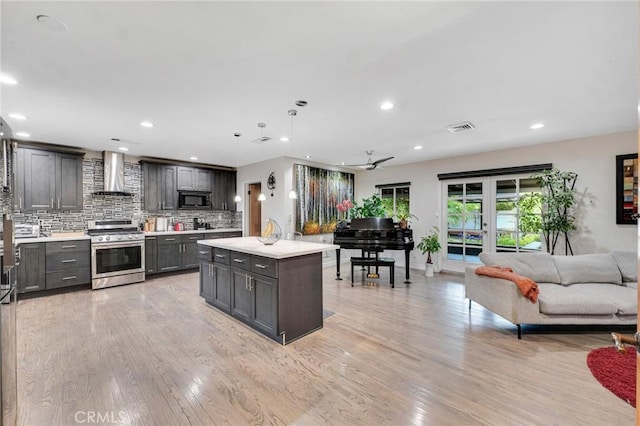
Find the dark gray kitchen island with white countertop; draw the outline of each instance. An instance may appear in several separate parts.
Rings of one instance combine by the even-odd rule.
[[[267,337],[290,343],[322,328],[322,253],[333,244],[255,237],[198,241],[200,295]]]

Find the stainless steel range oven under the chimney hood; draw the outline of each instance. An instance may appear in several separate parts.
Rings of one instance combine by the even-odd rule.
[[[144,233],[130,220],[89,223],[91,287],[144,281]]]

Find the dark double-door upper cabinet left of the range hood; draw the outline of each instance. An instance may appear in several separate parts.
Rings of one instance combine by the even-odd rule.
[[[19,148],[18,210],[82,209],[82,154]]]

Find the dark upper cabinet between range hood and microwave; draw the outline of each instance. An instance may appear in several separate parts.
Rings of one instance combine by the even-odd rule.
[[[143,163],[144,208],[147,211],[178,208],[177,166]]]

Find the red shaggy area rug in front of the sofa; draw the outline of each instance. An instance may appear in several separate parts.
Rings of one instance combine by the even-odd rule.
[[[594,349],[587,355],[587,365],[602,386],[617,397],[636,406],[636,350],[627,347],[621,354],[616,348]]]

